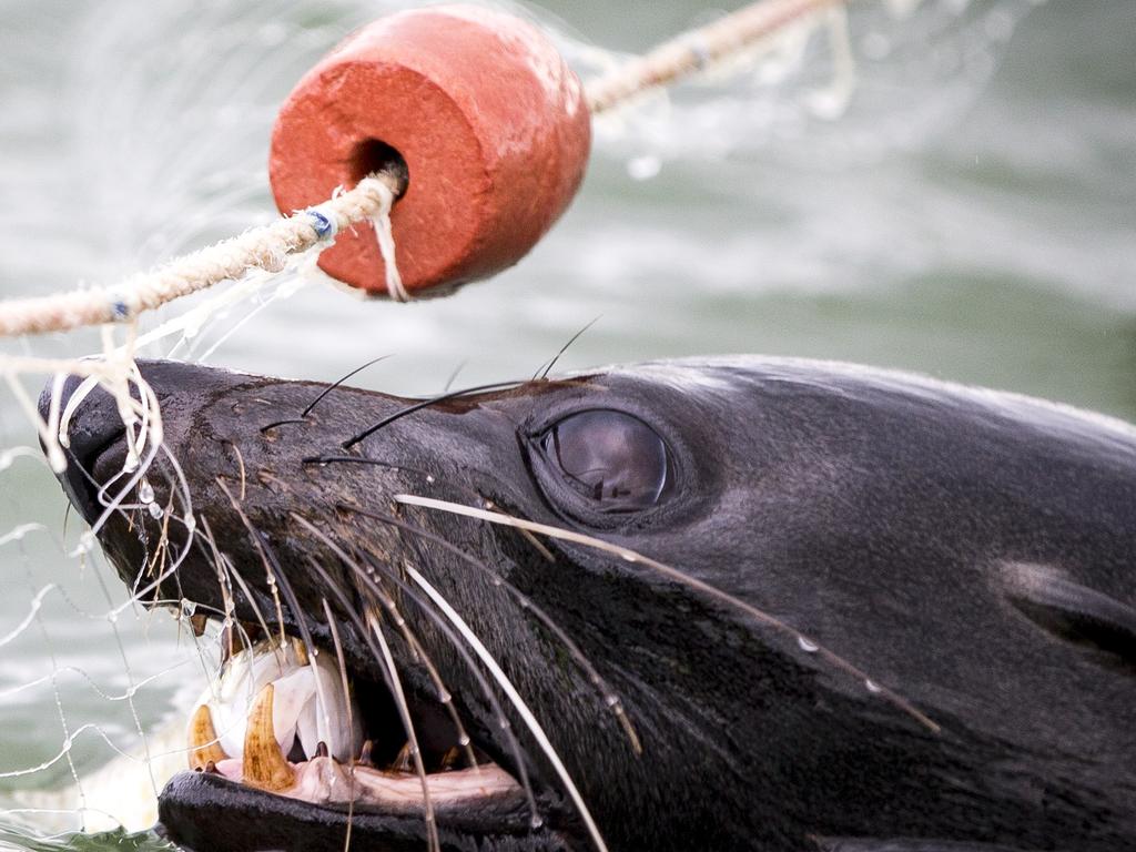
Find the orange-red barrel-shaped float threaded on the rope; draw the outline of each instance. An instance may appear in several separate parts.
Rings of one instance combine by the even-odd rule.
[[[579,80],[538,30],[441,6],[377,20],[312,68],[276,119],[269,177],[291,214],[401,158],[409,184],[391,224],[402,283],[452,289],[536,243],[575,194],[590,144]],[[341,233],[319,266],[386,291],[369,224]]]

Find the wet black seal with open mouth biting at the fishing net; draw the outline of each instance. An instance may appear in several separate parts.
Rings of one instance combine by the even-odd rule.
[[[141,600],[226,627],[186,847],[1136,847],[1126,424],[760,358],[141,375],[144,477],[94,394],[61,479]]]

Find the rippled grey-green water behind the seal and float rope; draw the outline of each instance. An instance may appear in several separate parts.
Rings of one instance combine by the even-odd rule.
[[[276,105],[391,6],[0,0],[0,296],[114,281],[264,220]],[[360,382],[431,392],[459,365],[469,383],[531,373],[599,317],[563,367],[832,358],[1136,419],[1136,2],[1033,6],[928,0],[895,24],[862,0],[842,117],[802,107],[825,82],[818,45],[783,85],[687,87],[601,128],[571,209],[496,279],[408,307],[315,282],[208,360],[327,381],[394,353]],[[638,51],[713,12],[548,0],[537,16],[591,73],[586,44]],[[75,334],[3,351],[97,348]],[[0,449],[18,444],[34,434],[0,391]],[[91,726],[67,752],[81,777],[114,755],[108,741],[136,746],[200,677],[165,613],[103,617],[125,595],[66,556],[80,531],[64,518],[42,465],[0,470],[0,537],[45,527],[0,545],[0,637],[58,584],[0,648],[0,774],[50,766],[0,778],[0,794],[70,780],[65,726]],[[17,820],[0,846],[40,847],[51,820]]]

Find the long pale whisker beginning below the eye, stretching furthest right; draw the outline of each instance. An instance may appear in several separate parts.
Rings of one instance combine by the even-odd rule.
[[[673,568],[662,562],[655,561],[650,557],[646,557],[637,551],[630,550],[629,548],[623,548],[618,544],[612,544],[611,542],[603,541],[602,538],[596,538],[584,533],[577,533],[573,529],[561,529],[560,527],[550,526],[548,524],[540,524],[533,520],[525,520],[524,518],[515,518],[511,515],[506,515],[501,511],[486,511],[484,509],[478,509],[473,506],[463,506],[461,503],[453,503],[448,500],[436,500],[434,498],[417,496],[415,494],[394,494],[392,498],[398,503],[403,503],[406,506],[417,506],[424,509],[434,509],[437,511],[450,512],[452,515],[462,515],[467,518],[477,518],[479,520],[488,521],[490,524],[500,524],[502,526],[510,526],[517,528],[525,528],[533,533],[540,535],[546,535],[551,538],[560,538],[562,541],[574,542],[576,544],[583,544],[588,548],[594,548],[595,550],[604,551],[617,556],[620,559],[630,562],[633,565],[642,565],[644,567],[651,568],[654,571],[663,575],[668,579],[676,583],[685,585],[693,588],[696,592],[701,592],[715,600],[725,603],[734,609],[742,611],[743,613],[750,616],[754,620],[772,627],[774,629],[788,634],[793,636],[797,643],[804,648],[808,646],[810,653],[817,653],[829,665],[835,668],[852,675],[860,679],[863,686],[871,693],[878,694],[891,702],[894,707],[902,710],[904,713],[910,716],[912,719],[918,721],[920,725],[926,727],[933,734],[938,734],[942,727],[934,721],[926,713],[916,708],[910,701],[904,699],[899,693],[884,686],[878,680],[871,678],[867,673],[854,666],[849,660],[845,660],[840,654],[834,651],[828,650],[819,642],[813,640],[811,636],[805,636],[800,630],[794,629],[785,621],[769,615],[768,612],[753,607],[745,601],[742,601],[728,592],[724,592],[717,586],[712,586],[696,577],[691,577],[677,568]],[[813,650],[815,649],[815,650]]]

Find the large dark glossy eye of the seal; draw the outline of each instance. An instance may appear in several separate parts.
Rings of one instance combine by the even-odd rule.
[[[569,415],[540,441],[565,482],[600,511],[648,509],[659,502],[670,481],[667,444],[641,419],[623,411]]]

